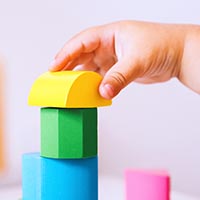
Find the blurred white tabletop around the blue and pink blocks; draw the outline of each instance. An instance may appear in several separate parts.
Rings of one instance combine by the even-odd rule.
[[[0,188],[0,200],[18,200],[21,196],[20,185]],[[125,200],[123,180],[113,177],[100,177],[99,199]],[[190,197],[173,191],[171,192],[171,200],[200,200],[200,198]]]

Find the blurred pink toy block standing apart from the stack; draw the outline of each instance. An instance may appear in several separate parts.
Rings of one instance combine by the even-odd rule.
[[[169,200],[170,177],[166,171],[127,170],[126,200]]]

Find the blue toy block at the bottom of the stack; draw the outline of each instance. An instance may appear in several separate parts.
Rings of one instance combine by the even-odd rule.
[[[23,155],[23,200],[97,200],[98,158],[50,159]]]

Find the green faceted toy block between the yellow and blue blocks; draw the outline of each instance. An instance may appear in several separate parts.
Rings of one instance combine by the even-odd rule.
[[[41,156],[97,155],[97,108],[41,108]]]

